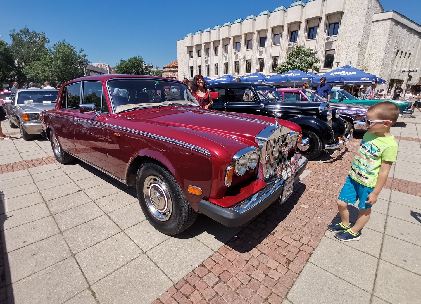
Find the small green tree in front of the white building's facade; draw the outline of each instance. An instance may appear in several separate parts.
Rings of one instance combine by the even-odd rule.
[[[299,69],[303,72],[308,72],[309,69],[313,69],[313,72],[319,72],[320,67],[316,65],[319,62],[320,59],[314,55],[314,51],[311,48],[305,48],[302,45],[298,45],[287,53],[286,60],[278,65],[275,71],[278,74],[293,69]]]

